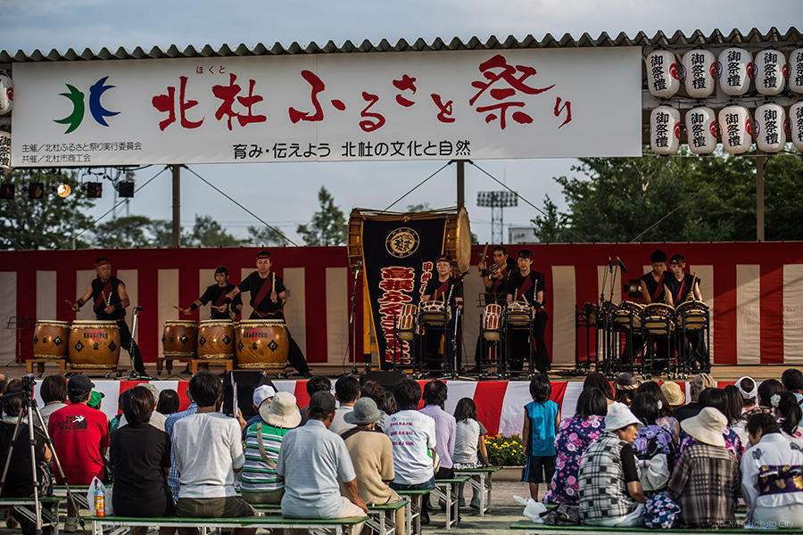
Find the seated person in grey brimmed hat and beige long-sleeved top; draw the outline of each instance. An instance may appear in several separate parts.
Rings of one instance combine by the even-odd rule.
[[[383,413],[377,402],[360,398],[353,410],[344,415],[347,424],[354,427],[341,433],[349,456],[352,457],[354,473],[357,474],[357,490],[367,504],[382,505],[402,499],[388,486],[393,481],[393,444],[384,432],[377,429]],[[404,535],[404,509],[396,511],[394,525],[398,535]]]

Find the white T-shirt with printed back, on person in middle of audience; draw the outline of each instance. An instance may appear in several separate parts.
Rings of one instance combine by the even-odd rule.
[[[385,418],[385,434],[393,444],[393,481],[417,485],[435,475],[435,420],[417,410],[401,410]]]

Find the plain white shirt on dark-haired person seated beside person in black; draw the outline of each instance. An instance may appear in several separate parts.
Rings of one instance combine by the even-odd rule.
[[[178,498],[236,496],[234,471],[243,467],[240,424],[231,416],[202,413],[186,416],[173,426]]]

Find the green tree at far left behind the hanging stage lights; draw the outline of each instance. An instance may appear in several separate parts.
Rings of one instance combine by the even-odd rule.
[[[4,177],[15,185],[13,199],[0,200],[0,248],[2,249],[73,249],[86,248],[87,235],[73,238],[92,223],[87,210],[95,205],[79,185],[77,173],[55,170],[15,169]],[[23,185],[44,183],[41,199],[29,199]],[[53,186],[70,185],[66,199],[57,196]]]

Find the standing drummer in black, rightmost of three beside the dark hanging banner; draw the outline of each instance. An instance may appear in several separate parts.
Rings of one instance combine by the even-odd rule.
[[[546,310],[543,309],[546,283],[542,273],[533,271],[533,251],[522,249],[518,251],[518,272],[508,279],[508,302],[526,301],[534,308],[534,340],[530,342],[530,333],[524,329],[515,329],[510,333],[509,369],[520,372],[525,358],[529,358],[529,343],[534,343],[535,368],[545,374],[550,371],[550,353],[547,350],[543,334],[546,331],[546,322],[549,320]]]

